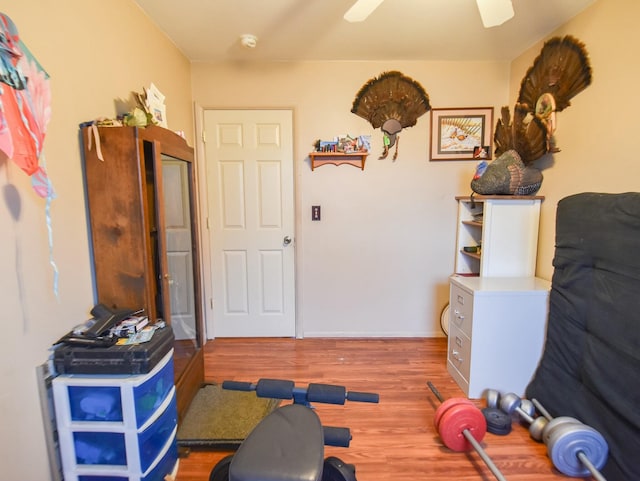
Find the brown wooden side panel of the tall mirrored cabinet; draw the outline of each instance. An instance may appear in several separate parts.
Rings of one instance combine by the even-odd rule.
[[[153,318],[154,265],[147,186],[133,128],[84,129],[85,186],[97,302],[147,309]],[[100,150],[98,151],[98,142]],[[98,155],[101,152],[101,155]],[[102,157],[102,158],[100,158]]]

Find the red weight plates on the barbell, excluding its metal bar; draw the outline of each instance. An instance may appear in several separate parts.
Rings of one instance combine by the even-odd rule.
[[[473,446],[462,432],[468,430],[480,442],[487,433],[487,421],[474,405],[452,406],[440,418],[438,433],[446,447],[452,451],[469,451]]]

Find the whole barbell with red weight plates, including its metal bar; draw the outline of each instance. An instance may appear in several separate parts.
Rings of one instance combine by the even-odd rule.
[[[480,441],[487,433],[487,422],[482,412],[466,398],[449,398],[445,401],[431,381],[427,381],[427,385],[441,403],[436,409],[433,421],[444,445],[452,451],[475,449],[496,479],[506,481],[498,467],[480,446]]]

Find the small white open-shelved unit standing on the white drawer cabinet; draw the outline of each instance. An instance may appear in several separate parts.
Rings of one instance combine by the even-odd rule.
[[[540,196],[460,196],[457,274],[528,277],[535,274]],[[465,247],[480,247],[466,252]]]

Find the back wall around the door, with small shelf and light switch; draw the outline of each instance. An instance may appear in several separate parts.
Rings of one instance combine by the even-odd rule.
[[[299,334],[442,335],[454,197],[471,192],[475,162],[429,161],[429,114],[400,133],[396,162],[378,160],[380,130],[350,110],[360,87],[385,70],[420,82],[436,108],[499,107],[508,99],[508,68],[394,61],[193,65],[194,100],[204,108],[293,109]],[[364,171],[327,165],[312,172],[307,155],[314,141],[343,133],[372,135]],[[322,207],[320,222],[310,219],[312,205]]]

